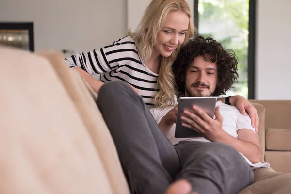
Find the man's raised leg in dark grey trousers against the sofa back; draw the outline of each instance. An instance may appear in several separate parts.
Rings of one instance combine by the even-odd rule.
[[[130,187],[162,194],[180,170],[177,152],[128,83],[104,84],[97,105],[113,137]]]

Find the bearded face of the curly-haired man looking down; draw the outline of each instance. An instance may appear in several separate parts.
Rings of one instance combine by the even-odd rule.
[[[185,96],[209,97],[217,84],[217,64],[205,61],[203,56],[195,57],[186,70]]]

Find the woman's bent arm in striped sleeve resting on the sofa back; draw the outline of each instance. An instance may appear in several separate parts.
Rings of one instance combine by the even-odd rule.
[[[93,78],[92,75],[116,70],[116,68],[120,67],[121,64],[119,61],[122,61],[122,58],[138,58],[138,54],[134,52],[135,48],[132,37],[127,36],[100,49],[81,52],[67,57],[65,58],[65,64],[78,71],[91,88],[98,93],[104,83]],[[120,50],[129,51],[122,52]],[[136,88],[131,87],[139,94]]]

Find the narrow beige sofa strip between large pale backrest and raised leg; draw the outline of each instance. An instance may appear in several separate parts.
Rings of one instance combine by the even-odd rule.
[[[96,105],[97,94],[76,70],[70,69],[65,65],[62,55],[51,51],[40,53],[40,55],[51,62],[69,97],[74,102],[95,144],[96,151],[100,154],[104,170],[107,172],[112,185],[113,193],[128,194],[129,187],[123,174],[113,139]]]

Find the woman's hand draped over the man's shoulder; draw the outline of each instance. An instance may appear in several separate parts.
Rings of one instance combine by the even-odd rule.
[[[236,95],[229,98],[230,103],[234,106],[236,106],[242,115],[246,116],[246,112],[248,112],[250,118],[252,127],[255,128],[256,133],[258,133],[258,127],[259,127],[259,116],[257,109],[244,97]]]

